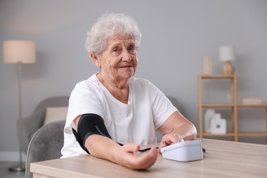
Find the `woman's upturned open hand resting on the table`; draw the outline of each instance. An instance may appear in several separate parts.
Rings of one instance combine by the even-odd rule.
[[[127,143],[120,147],[116,155],[117,164],[133,170],[151,167],[157,160],[157,149],[152,147],[145,153],[135,154],[139,149],[140,145],[133,143]]]

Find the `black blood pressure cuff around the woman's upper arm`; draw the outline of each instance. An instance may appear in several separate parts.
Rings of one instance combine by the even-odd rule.
[[[100,136],[106,136],[107,138],[111,138],[110,134],[107,132],[107,128],[104,125],[104,122],[101,118],[101,116],[97,114],[84,114],[79,119],[78,123],[78,133],[73,129],[73,134],[79,142],[79,145],[82,149],[84,149],[87,153],[89,151],[86,149],[86,139],[89,136],[92,136],[94,134],[100,135]]]

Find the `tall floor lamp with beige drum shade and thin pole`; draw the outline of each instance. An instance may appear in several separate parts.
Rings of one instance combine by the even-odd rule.
[[[3,42],[3,62],[18,65],[18,113],[19,119],[22,118],[21,107],[21,66],[31,64],[36,61],[35,44],[26,40],[7,40]],[[25,170],[22,161],[22,151],[19,149],[19,165],[9,168],[11,171],[21,172]]]

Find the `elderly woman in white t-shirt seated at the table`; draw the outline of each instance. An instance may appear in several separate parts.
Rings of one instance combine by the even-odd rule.
[[[133,77],[140,38],[138,25],[124,14],[104,14],[88,31],[86,49],[99,72],[71,93],[62,157],[90,153],[144,169],[155,163],[160,149],[134,153],[157,142],[156,130],[164,134],[160,148],[196,137],[194,125],[156,86]]]

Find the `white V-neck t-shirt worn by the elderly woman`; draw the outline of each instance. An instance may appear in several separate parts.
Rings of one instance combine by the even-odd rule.
[[[155,130],[176,107],[147,79],[129,79],[128,103],[121,103],[101,84],[97,75],[79,82],[68,105],[64,127],[64,147],[62,157],[87,154],[75,140],[73,119],[81,114],[97,114],[103,118],[112,140],[125,144],[153,144],[157,142]]]

